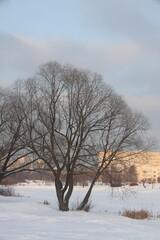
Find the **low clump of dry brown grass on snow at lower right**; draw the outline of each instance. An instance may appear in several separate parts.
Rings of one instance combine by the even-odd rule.
[[[121,213],[122,216],[132,218],[132,219],[149,219],[152,217],[152,214],[145,209],[141,209],[139,211],[137,210],[125,210],[123,213]]]

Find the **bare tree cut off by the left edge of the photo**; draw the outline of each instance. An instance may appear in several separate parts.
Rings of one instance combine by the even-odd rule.
[[[10,175],[29,170],[33,152],[22,141],[24,116],[15,91],[0,90],[0,182]]]

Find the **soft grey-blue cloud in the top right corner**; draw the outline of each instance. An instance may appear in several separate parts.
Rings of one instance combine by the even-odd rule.
[[[152,22],[160,5],[152,0],[82,0],[84,21],[99,33],[142,39],[150,37],[158,29]],[[82,4],[81,4],[82,7]],[[150,17],[151,16],[151,17]]]

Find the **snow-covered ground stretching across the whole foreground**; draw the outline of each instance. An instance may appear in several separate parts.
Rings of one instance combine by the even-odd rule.
[[[134,220],[120,216],[127,209],[160,214],[160,185],[137,186],[132,191],[95,186],[90,212],[60,212],[54,186],[15,186],[22,197],[0,196],[0,240],[159,240],[160,218]],[[71,208],[87,187],[76,187]],[[44,205],[48,201],[50,205]]]

